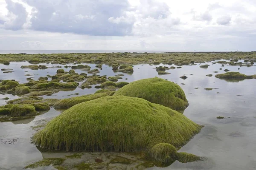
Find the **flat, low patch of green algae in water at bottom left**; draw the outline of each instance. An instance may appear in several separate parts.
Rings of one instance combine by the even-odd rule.
[[[59,164],[62,164],[64,160],[65,159],[63,158],[44,158],[41,161],[27,165],[25,168],[37,168],[37,167],[46,167],[49,165],[59,165]]]

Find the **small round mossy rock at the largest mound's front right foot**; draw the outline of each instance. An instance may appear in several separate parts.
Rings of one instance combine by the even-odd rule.
[[[177,149],[172,144],[159,143],[149,151],[151,157],[161,164],[171,164],[176,160]]]

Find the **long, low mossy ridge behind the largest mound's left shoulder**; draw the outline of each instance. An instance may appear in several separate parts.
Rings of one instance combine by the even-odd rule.
[[[104,97],[104,96],[108,96],[108,94],[97,93],[97,94],[88,94],[85,96],[72,97],[72,98],[68,98],[68,99],[61,99],[53,105],[53,108],[68,109],[76,104],[81,103],[81,102],[87,102],[87,101],[90,101],[93,99],[98,99],[98,98]]]

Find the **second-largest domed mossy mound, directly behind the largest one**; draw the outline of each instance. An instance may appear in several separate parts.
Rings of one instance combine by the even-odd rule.
[[[189,105],[179,85],[157,77],[131,82],[116,91],[114,96],[117,95],[143,98],[175,110],[184,109]]]

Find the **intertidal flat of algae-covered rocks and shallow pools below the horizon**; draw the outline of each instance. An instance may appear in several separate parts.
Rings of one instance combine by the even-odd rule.
[[[255,62],[255,52],[1,54],[0,167],[254,169]]]

